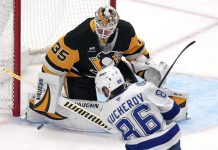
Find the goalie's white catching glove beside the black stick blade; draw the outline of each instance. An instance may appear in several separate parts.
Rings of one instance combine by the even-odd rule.
[[[160,81],[166,74],[169,66],[165,62],[156,64],[151,58],[147,58],[144,55],[140,55],[130,62],[134,72],[143,79],[158,86]]]

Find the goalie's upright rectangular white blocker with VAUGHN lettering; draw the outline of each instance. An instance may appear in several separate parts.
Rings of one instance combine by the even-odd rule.
[[[54,113],[61,95],[62,83],[63,78],[60,76],[39,73],[33,108],[37,111]]]

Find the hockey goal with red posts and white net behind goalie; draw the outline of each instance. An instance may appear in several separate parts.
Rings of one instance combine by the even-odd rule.
[[[2,71],[21,74],[21,52],[34,53],[75,28],[100,7],[116,0],[1,0],[0,114],[20,116],[21,86]]]

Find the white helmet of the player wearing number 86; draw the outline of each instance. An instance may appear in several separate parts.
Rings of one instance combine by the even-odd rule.
[[[125,83],[120,70],[113,66],[108,66],[99,71],[95,78],[95,85],[99,92],[110,97],[111,92]]]

